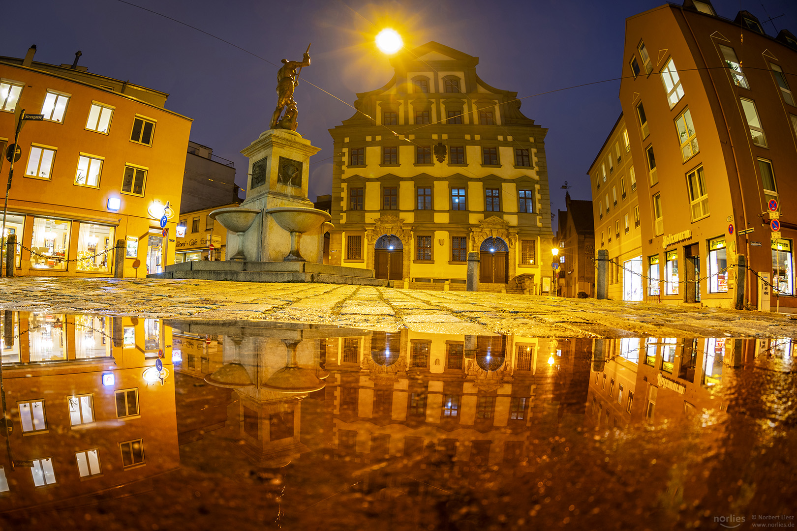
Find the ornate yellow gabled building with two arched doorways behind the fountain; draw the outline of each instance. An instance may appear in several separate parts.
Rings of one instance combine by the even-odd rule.
[[[391,64],[393,79],[330,130],[329,263],[465,289],[468,253],[480,252],[480,289],[548,291],[547,130],[516,92],[477,76],[477,57],[429,42]]]

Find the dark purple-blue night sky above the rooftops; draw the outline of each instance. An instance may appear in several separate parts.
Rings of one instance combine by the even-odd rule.
[[[299,128],[322,150],[311,159],[310,199],[332,189],[332,138],[328,129],[354,113],[355,92],[381,87],[392,76],[386,56],[373,45],[383,27],[402,33],[407,48],[438,41],[479,57],[477,73],[493,87],[516,91],[520,111],[548,127],[545,148],[552,210],[564,209],[564,181],[574,199],[590,199],[587,170],[621,109],[619,81],[537,94],[626,74],[625,19],[662,5],[630,2],[358,2],[355,0],[119,0],[5,2],[0,55],[80,65],[89,72],[167,92],[167,108],[194,119],[190,138],[235,162],[268,128],[276,104],[282,58],[300,61],[312,42],[312,66],[296,88]],[[777,30],[797,33],[793,0],[717,0],[720,16],[746,9],[760,21],[776,18]],[[194,26],[192,29],[186,25]],[[771,36],[777,32],[763,23]],[[219,41],[206,33],[229,41]],[[236,48],[235,46],[240,47]],[[244,51],[245,50],[245,51]],[[259,57],[256,57],[259,56]],[[270,61],[273,64],[269,64]],[[349,105],[347,105],[348,103]]]

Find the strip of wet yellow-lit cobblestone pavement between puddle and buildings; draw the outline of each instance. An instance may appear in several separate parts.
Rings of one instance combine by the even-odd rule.
[[[338,284],[3,278],[0,309],[525,337],[797,338],[797,316],[787,314]]]

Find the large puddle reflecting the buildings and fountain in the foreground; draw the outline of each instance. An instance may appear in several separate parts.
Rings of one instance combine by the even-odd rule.
[[[2,331],[2,529],[795,525],[791,339]]]

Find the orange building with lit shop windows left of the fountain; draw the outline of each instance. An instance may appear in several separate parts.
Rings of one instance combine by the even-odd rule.
[[[117,240],[125,277],[163,271],[174,262],[191,120],[164,108],[163,92],[89,73],[77,60],[39,63],[35,52],[0,57],[3,152],[15,113],[44,115],[19,135],[6,219],[18,241],[15,274],[112,276]],[[9,166],[0,162],[2,182]]]

